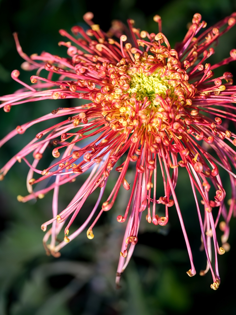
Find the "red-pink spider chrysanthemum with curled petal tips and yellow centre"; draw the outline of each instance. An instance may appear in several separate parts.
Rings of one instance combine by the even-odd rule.
[[[213,278],[211,288],[218,288],[220,277],[217,255],[229,249],[229,221],[232,214],[236,215],[236,175],[232,171],[232,167],[236,167],[236,152],[233,149],[236,135],[227,129],[229,121],[236,122],[233,105],[236,102],[236,86],[233,86],[230,72],[213,78],[213,70],[236,60],[236,49],[230,51],[227,59],[215,65],[205,61],[214,53],[212,43],[234,26],[235,18],[236,13],[233,13],[215,26],[202,30],[206,27],[206,22],[201,22],[201,15],[196,13],[182,43],[172,49],[161,32],[161,19],[158,15],[154,17],[159,24],[158,34],[140,32],[133,27],[133,20],[128,20],[128,28],[115,21],[106,34],[99,25],[92,22],[93,14],[88,12],[84,15],[84,20],[91,27],[87,31],[80,26],[74,26],[71,31],[75,37],[64,30],[59,31],[69,39],[68,42],[59,42],[60,46],[68,48],[68,58],[46,52],[28,57],[21,49],[17,34],[14,34],[17,50],[26,60],[23,69],[38,70],[37,75],[31,77],[32,85],[20,81],[19,71],[12,72],[12,78],[24,87],[14,94],[0,98],[5,112],[9,112],[11,106],[37,100],[87,100],[86,105],[60,107],[52,113],[18,126],[1,141],[3,145],[14,135],[23,134],[33,124],[66,116],[60,123],[52,124],[48,129],[39,132],[1,169],[3,179],[16,161],[24,160],[29,166],[29,195],[18,196],[21,202],[43,198],[47,192],[54,190],[53,218],[42,224],[43,231],[52,224],[43,239],[48,254],[58,256],[59,250],[89,224],[87,237],[92,239],[93,226],[104,211],[112,208],[123,186],[126,190],[131,188],[131,193],[126,210],[117,217],[118,222],[127,221],[127,226],[116,282],[119,282],[138,241],[139,222],[143,212],[148,223],[164,226],[168,223],[168,209],[173,206],[177,210],[188,249],[191,268],[187,274],[194,276],[196,271],[190,244],[175,194],[178,167],[183,167],[188,173],[193,190],[202,248],[207,257],[206,269],[200,274],[204,275],[210,269]],[[48,71],[47,78],[40,77],[42,69]],[[222,119],[225,119],[223,124]],[[80,141],[85,139],[86,145],[80,147]],[[63,151],[61,159],[56,159],[53,165],[39,170],[38,161],[51,142],[56,145],[52,152],[53,157],[58,158]],[[217,159],[208,152],[208,148],[214,150]],[[34,157],[32,164],[26,159],[31,152]],[[119,163],[116,163],[122,156],[124,162],[117,166]],[[131,186],[125,178],[130,164],[136,167]],[[232,197],[229,210],[224,204],[225,190],[217,165],[225,169],[230,177]],[[97,212],[107,179],[114,167],[120,172],[119,178],[112,187],[110,196],[103,202],[102,209]],[[161,178],[157,178],[158,168]],[[87,180],[69,205],[58,213],[59,187],[73,182],[87,170]],[[42,176],[35,180],[34,173]],[[50,176],[55,176],[53,182],[49,182],[46,188],[33,191],[33,184]],[[163,181],[165,196],[160,196],[156,191],[157,180]],[[96,189],[100,189],[100,194],[93,210],[69,239],[71,224],[85,200]],[[216,192],[214,200],[209,198],[211,189]],[[201,200],[198,200],[196,192],[200,194]],[[165,216],[158,216],[156,204],[165,205]],[[200,207],[205,209],[204,217]],[[216,215],[213,216],[212,212]],[[95,214],[95,220],[91,221]],[[216,226],[221,215],[224,221],[220,223],[220,229],[224,233],[221,237],[222,247],[219,247]],[[65,222],[65,238],[58,243],[57,235]],[[214,249],[211,248],[211,238]],[[211,265],[212,250],[215,253],[214,269]]]

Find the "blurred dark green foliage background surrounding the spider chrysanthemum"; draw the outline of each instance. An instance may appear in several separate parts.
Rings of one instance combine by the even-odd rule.
[[[81,1],[81,0],[18,0],[0,1],[0,95],[13,93],[20,85],[10,73],[20,70],[23,60],[17,54],[12,33],[19,33],[20,43],[27,54],[43,50],[66,56],[66,49],[58,47],[62,38],[58,30],[70,31],[73,25],[86,27],[82,15],[94,13],[94,22],[108,31],[110,21],[127,18],[136,21],[136,27],[149,32],[157,31],[153,16],[163,20],[163,32],[173,46],[180,42],[194,13],[202,14],[208,25],[236,10],[236,2],[225,0],[157,1],[155,4],[141,0]],[[229,56],[236,48],[235,27],[220,38],[214,63]],[[236,63],[217,70],[236,74]],[[20,78],[30,83],[34,72],[20,70]],[[61,102],[61,104],[59,104]],[[10,113],[1,110],[1,138],[17,125],[42,116],[59,106],[75,106],[75,100],[51,100],[14,106]],[[17,135],[1,148],[1,166],[18,152],[34,135],[44,129],[42,123],[31,127],[24,135]],[[233,126],[232,126],[233,128]],[[51,163],[49,148],[40,165]],[[45,168],[45,167],[43,167]],[[42,246],[41,224],[51,218],[52,193],[37,203],[18,203],[17,195],[26,195],[28,167],[17,163],[0,183],[0,314],[2,315],[156,315],[202,314],[217,312],[235,314],[235,219],[231,222],[229,243],[231,250],[219,257],[221,285],[217,291],[210,289],[211,274],[199,276],[205,268],[205,253],[199,251],[200,228],[185,170],[180,169],[177,196],[193,250],[197,274],[189,278],[190,264],[176,210],[170,210],[170,223],[166,227],[141,222],[138,245],[133,259],[121,279],[121,289],[115,289],[115,272],[119,259],[124,224],[116,216],[124,213],[128,195],[121,191],[115,207],[98,221],[94,239],[88,240],[83,232],[62,251],[56,259],[45,255]],[[228,176],[221,171],[222,181],[230,198]],[[132,181],[133,170],[128,179]],[[116,175],[110,176],[113,185]],[[128,180],[127,179],[127,180]],[[59,210],[63,209],[83,182],[60,189]],[[108,185],[110,186],[110,185]],[[161,185],[160,189],[161,189]],[[109,190],[106,191],[108,195]],[[84,212],[76,219],[74,228],[82,223],[84,215],[95,203],[97,194],[87,201]],[[161,213],[162,209],[159,209]],[[215,214],[214,214],[215,215]],[[217,229],[220,240],[221,231]]]

